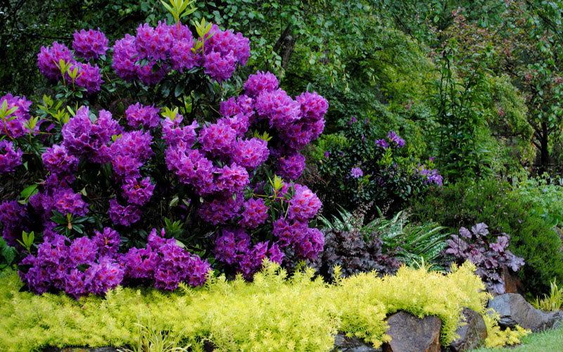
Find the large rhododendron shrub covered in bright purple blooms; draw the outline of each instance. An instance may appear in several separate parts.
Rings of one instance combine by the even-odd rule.
[[[225,81],[246,64],[248,39],[204,22],[196,29],[199,37],[180,22],[145,23],[113,48],[100,30],[76,31],[73,51],[54,42],[38,55],[68,100],[45,96],[32,118],[25,97],[0,98],[2,181],[21,191],[4,195],[0,222],[31,291],[172,290],[203,284],[210,270],[252,279],[265,258],[322,251],[323,234],[309,227],[321,202],[294,182],[305,168],[301,149],[324,128],[322,96],[291,97],[263,72],[203,112],[186,103],[201,92],[148,101],[129,89],[157,96],[165,81],[202,79],[216,96],[231,95]],[[96,60],[112,87],[125,87],[122,111],[98,99],[110,89]],[[34,244],[21,241],[23,231]]]

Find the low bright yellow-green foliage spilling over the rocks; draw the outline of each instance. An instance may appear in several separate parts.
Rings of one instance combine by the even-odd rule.
[[[287,277],[268,263],[253,283],[215,277],[205,287],[173,293],[118,288],[106,298],[74,301],[64,295],[20,292],[13,271],[0,278],[0,351],[44,346],[134,346],[143,329],[201,351],[204,340],[219,351],[330,351],[337,331],[375,346],[388,341],[384,318],[397,310],[443,322],[441,342],[455,338],[463,307],[486,318],[490,346],[520,334],[501,333],[484,308],[488,294],[474,265],[448,275],[403,267],[396,276],[361,274],[325,284],[305,269]],[[489,341],[488,341],[489,342]]]

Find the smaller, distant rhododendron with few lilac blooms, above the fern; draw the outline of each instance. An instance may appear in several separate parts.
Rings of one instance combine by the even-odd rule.
[[[340,127],[339,134],[324,136],[315,151],[322,179],[316,190],[327,203],[326,213],[336,214],[339,206],[351,211],[370,201],[393,213],[407,199],[442,187],[434,158],[412,158],[397,132],[382,133],[368,119],[355,117]]]

